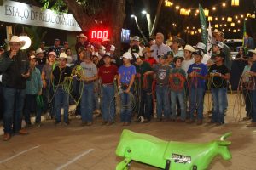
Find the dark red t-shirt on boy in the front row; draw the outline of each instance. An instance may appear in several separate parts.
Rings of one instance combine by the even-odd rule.
[[[108,67],[102,65],[99,69],[99,77],[102,79],[102,84],[113,83],[115,75],[118,75],[118,68],[115,65]]]

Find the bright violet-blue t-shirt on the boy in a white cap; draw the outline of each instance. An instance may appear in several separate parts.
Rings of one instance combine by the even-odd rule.
[[[121,75],[120,82],[129,84],[131,81],[131,76],[136,75],[136,68],[134,65],[130,65],[128,67],[122,65],[119,67],[119,74]]]

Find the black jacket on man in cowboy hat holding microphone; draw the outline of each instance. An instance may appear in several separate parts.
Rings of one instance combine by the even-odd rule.
[[[10,51],[3,54],[0,59],[0,72],[3,74],[2,83],[3,87],[25,89],[26,78],[21,74],[27,73],[29,69],[29,61],[25,52],[19,50],[17,55],[9,58]]]

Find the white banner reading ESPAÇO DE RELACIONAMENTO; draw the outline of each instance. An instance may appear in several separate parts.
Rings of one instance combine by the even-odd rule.
[[[3,6],[0,6],[0,21],[67,31],[82,31],[72,14],[58,14],[49,9],[43,10],[15,1],[3,1]]]

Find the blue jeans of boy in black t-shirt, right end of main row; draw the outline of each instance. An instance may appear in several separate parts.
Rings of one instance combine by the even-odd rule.
[[[211,92],[213,100],[212,122],[224,123],[226,88],[212,88]]]

